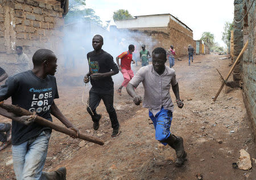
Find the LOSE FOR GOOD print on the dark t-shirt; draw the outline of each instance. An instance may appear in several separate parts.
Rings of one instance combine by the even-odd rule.
[[[52,88],[35,89],[30,88],[30,92],[33,92],[30,112],[47,112],[51,105],[48,105],[48,99],[52,98]]]

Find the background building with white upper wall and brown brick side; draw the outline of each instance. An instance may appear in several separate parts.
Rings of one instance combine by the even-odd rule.
[[[166,20],[167,20],[166,18],[168,18],[167,26],[152,27],[153,26],[152,24],[158,22],[158,18],[160,19],[161,25],[164,25],[164,23],[166,23]],[[141,23],[137,24],[138,27],[135,27],[134,25],[135,23],[133,23],[133,25],[129,25],[130,22],[136,21],[136,19],[119,20],[119,21],[116,21],[115,23],[117,24],[117,27],[125,27],[125,28],[118,28],[118,29],[130,29],[130,31],[142,32],[147,36],[150,36],[154,41],[152,45],[146,44],[146,49],[150,50],[150,52],[152,52],[152,50],[158,46],[168,50],[170,48],[170,45],[174,45],[176,54],[179,57],[179,56],[187,55],[188,45],[195,43],[193,41],[192,30],[186,27],[183,23],[179,22],[177,19],[172,18],[170,14],[159,15],[159,16],[158,15],[142,16],[142,19],[144,20],[144,22],[140,21]],[[154,21],[152,19],[154,19]],[[122,24],[122,26],[120,24]],[[127,25],[125,26],[125,24]],[[148,24],[150,24],[151,27],[148,27]],[[143,40],[139,40],[139,41],[143,42]]]

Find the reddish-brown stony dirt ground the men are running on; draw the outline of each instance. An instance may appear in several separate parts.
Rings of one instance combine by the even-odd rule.
[[[60,98],[55,102],[81,132],[101,138],[105,145],[82,142],[53,131],[44,170],[66,166],[67,179],[197,179],[197,174],[203,179],[256,179],[255,143],[242,90],[224,88],[217,101],[212,101],[221,85],[216,68],[224,77],[230,70],[230,59],[221,57],[224,55],[196,55],[191,66],[187,57],[175,61],[184,107],[179,109],[175,104],[171,132],[184,139],[188,156],[181,168],[174,165],[174,149],[155,140],[148,110],[135,106],[125,89],[122,96],[114,96],[121,134],[110,138],[112,128],[103,102],[97,109],[102,113],[100,128],[94,131],[82,104],[83,92],[86,100],[89,87],[81,85],[59,86]],[[133,66],[134,71],[138,68]],[[115,88],[119,84],[115,82]],[[142,85],[136,91],[143,95]],[[174,100],[174,93],[171,96]],[[53,122],[60,124],[56,119]],[[250,170],[232,168],[240,157],[240,149],[250,153]],[[0,153],[0,158],[0,179],[14,179],[10,146]]]

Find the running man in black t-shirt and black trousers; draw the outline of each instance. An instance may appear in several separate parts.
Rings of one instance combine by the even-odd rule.
[[[92,40],[93,51],[87,54],[89,72],[84,77],[84,82],[90,83],[92,88],[89,91],[87,111],[92,117],[93,129],[98,130],[101,114],[96,112],[97,106],[103,100],[112,124],[112,138],[119,135],[119,123],[117,113],[113,106],[114,82],[113,75],[118,74],[118,66],[114,63],[112,55],[101,49],[103,38],[95,35]]]

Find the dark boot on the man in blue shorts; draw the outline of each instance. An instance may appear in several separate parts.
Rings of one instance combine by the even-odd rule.
[[[185,157],[187,156],[187,153],[184,151],[183,147],[183,138],[180,136],[170,135],[169,138],[167,138],[167,143],[175,149],[177,155],[175,165],[180,167],[183,165],[184,161],[186,160]]]

